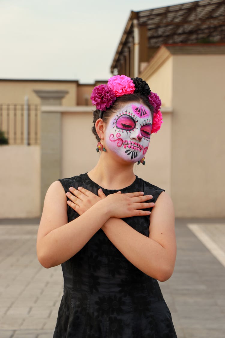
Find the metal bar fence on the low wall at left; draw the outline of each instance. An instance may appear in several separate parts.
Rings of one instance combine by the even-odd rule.
[[[8,144],[39,144],[39,124],[39,105],[0,103],[0,130]]]

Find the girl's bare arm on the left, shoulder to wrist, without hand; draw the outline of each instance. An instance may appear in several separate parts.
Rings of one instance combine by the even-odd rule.
[[[37,234],[37,257],[46,268],[59,265],[76,254],[107,221],[101,204],[68,223],[64,189],[59,181],[47,191]],[[90,222],[91,219],[91,222]]]

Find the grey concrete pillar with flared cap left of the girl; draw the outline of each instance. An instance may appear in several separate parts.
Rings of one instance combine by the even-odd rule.
[[[66,90],[34,90],[41,106],[59,106]],[[41,111],[40,118],[40,196],[41,209],[48,187],[61,178],[61,112]]]

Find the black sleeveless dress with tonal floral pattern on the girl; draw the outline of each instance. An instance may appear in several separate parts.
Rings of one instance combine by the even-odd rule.
[[[84,187],[97,194],[100,188],[87,173],[59,181],[65,192],[69,187]],[[109,195],[117,190],[103,191]],[[121,191],[144,191],[155,202],[163,190],[136,176],[134,183]],[[68,222],[78,216],[68,207]],[[123,220],[149,235],[149,216]],[[130,263],[101,229],[62,264],[62,271],[64,293],[54,338],[177,337],[157,280]]]

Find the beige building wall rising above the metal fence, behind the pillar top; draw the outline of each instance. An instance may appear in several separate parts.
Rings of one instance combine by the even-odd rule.
[[[40,104],[40,99],[33,90],[67,90],[69,93],[62,100],[65,106],[77,104],[77,82],[63,81],[1,81],[0,80],[0,103],[24,103],[27,95],[30,104]]]

